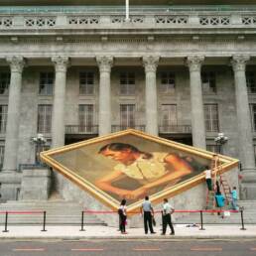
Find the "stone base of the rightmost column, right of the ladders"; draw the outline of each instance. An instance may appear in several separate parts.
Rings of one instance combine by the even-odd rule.
[[[241,173],[240,195],[242,200],[255,200],[256,170],[246,170]]]

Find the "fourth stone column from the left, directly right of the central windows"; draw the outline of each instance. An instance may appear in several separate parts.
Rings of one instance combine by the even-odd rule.
[[[157,67],[159,57],[143,57],[146,73],[145,108],[146,132],[158,136],[158,96],[157,96]]]

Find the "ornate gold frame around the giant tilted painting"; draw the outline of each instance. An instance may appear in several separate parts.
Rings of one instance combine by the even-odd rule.
[[[213,157],[213,153],[202,150],[202,149],[197,149],[192,146],[187,146],[187,145],[184,145],[181,143],[177,143],[174,141],[170,141],[170,140],[166,140],[166,139],[159,138],[156,136],[152,136],[152,135],[146,134],[141,131],[128,129],[128,130],[116,132],[116,133],[113,133],[110,135],[105,135],[105,136],[97,137],[97,138],[90,139],[87,141],[67,145],[67,146],[64,146],[64,147],[61,147],[58,149],[45,151],[40,154],[40,158],[41,158],[42,162],[45,162],[47,165],[51,166],[54,170],[56,170],[59,173],[61,173],[62,175],[64,175],[65,178],[67,178],[69,181],[76,184],[83,191],[89,192],[90,194],[95,196],[97,199],[99,199],[102,203],[106,204],[107,206],[109,206],[115,210],[119,207],[119,203],[120,203],[119,201],[117,201],[115,198],[113,198],[106,192],[102,192],[101,190],[96,188],[94,185],[92,185],[91,183],[89,183],[88,181],[83,179],[81,176],[78,176],[74,172],[68,170],[63,165],[61,165],[56,160],[54,160],[52,157],[56,154],[60,154],[60,153],[66,152],[66,151],[77,149],[77,148],[80,148],[80,147],[83,147],[86,145],[92,145],[92,144],[102,142],[105,140],[118,138],[118,137],[121,137],[124,135],[135,135],[135,136],[141,137],[145,140],[150,140],[152,142],[157,142],[157,143],[160,143],[160,144],[163,144],[166,146],[171,146],[172,148],[182,150],[184,152],[192,153],[196,156],[199,156],[199,157],[202,157],[202,158],[208,159],[208,160],[211,160]],[[220,160],[220,163],[222,163],[221,164],[222,173],[227,172],[228,170],[237,167],[238,162],[239,162],[237,159],[233,159],[233,158],[226,157],[223,155],[219,155],[219,160]],[[197,176],[193,177],[192,179],[189,179],[185,182],[182,182],[178,185],[173,186],[172,188],[169,188],[162,192],[153,194],[151,196],[151,201],[153,203],[158,203],[158,202],[162,201],[164,197],[172,197],[178,193],[185,192],[187,190],[192,189],[192,187],[194,187],[202,182],[204,182],[204,174],[197,175]],[[138,208],[141,206],[141,202],[142,201],[139,200],[139,201],[136,201],[135,203],[128,205],[127,211],[134,212],[134,211],[138,210]]]

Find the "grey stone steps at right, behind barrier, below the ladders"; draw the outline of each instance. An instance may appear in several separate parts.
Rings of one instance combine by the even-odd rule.
[[[256,224],[256,200],[240,200],[238,205],[244,207],[243,217],[244,224]],[[187,216],[179,216],[175,213],[175,223],[177,224],[191,224],[200,223],[199,212],[191,213]],[[232,213],[228,217],[221,218],[219,215],[203,213],[203,223],[205,224],[241,224],[241,213]]]

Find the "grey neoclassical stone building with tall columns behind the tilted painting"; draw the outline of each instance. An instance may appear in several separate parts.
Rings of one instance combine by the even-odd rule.
[[[3,200],[43,149],[127,128],[210,151],[224,132],[255,198],[256,1],[13,2],[0,4]]]

